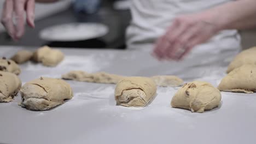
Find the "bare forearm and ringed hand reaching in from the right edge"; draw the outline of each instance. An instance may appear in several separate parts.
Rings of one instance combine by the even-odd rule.
[[[178,16],[159,38],[153,54],[159,59],[182,59],[193,47],[224,29],[256,27],[256,1],[224,3],[200,13]]]

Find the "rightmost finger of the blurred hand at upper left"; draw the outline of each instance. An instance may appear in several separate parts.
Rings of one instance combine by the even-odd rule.
[[[34,0],[28,0],[26,3],[27,23],[34,28]]]

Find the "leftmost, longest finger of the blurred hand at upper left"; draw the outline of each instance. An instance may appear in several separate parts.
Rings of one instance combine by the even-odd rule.
[[[6,0],[4,2],[1,22],[7,29],[10,37],[15,39],[15,28],[13,23],[13,0]]]

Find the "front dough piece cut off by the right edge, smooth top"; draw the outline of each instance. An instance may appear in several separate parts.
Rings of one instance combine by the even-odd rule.
[[[256,65],[243,65],[232,70],[220,82],[218,89],[225,92],[256,92]]]

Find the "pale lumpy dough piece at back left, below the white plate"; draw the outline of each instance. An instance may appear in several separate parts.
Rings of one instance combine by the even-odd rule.
[[[51,49],[48,46],[40,47],[33,53],[33,61],[42,62],[43,65],[55,67],[64,59],[64,54],[60,50]]]

